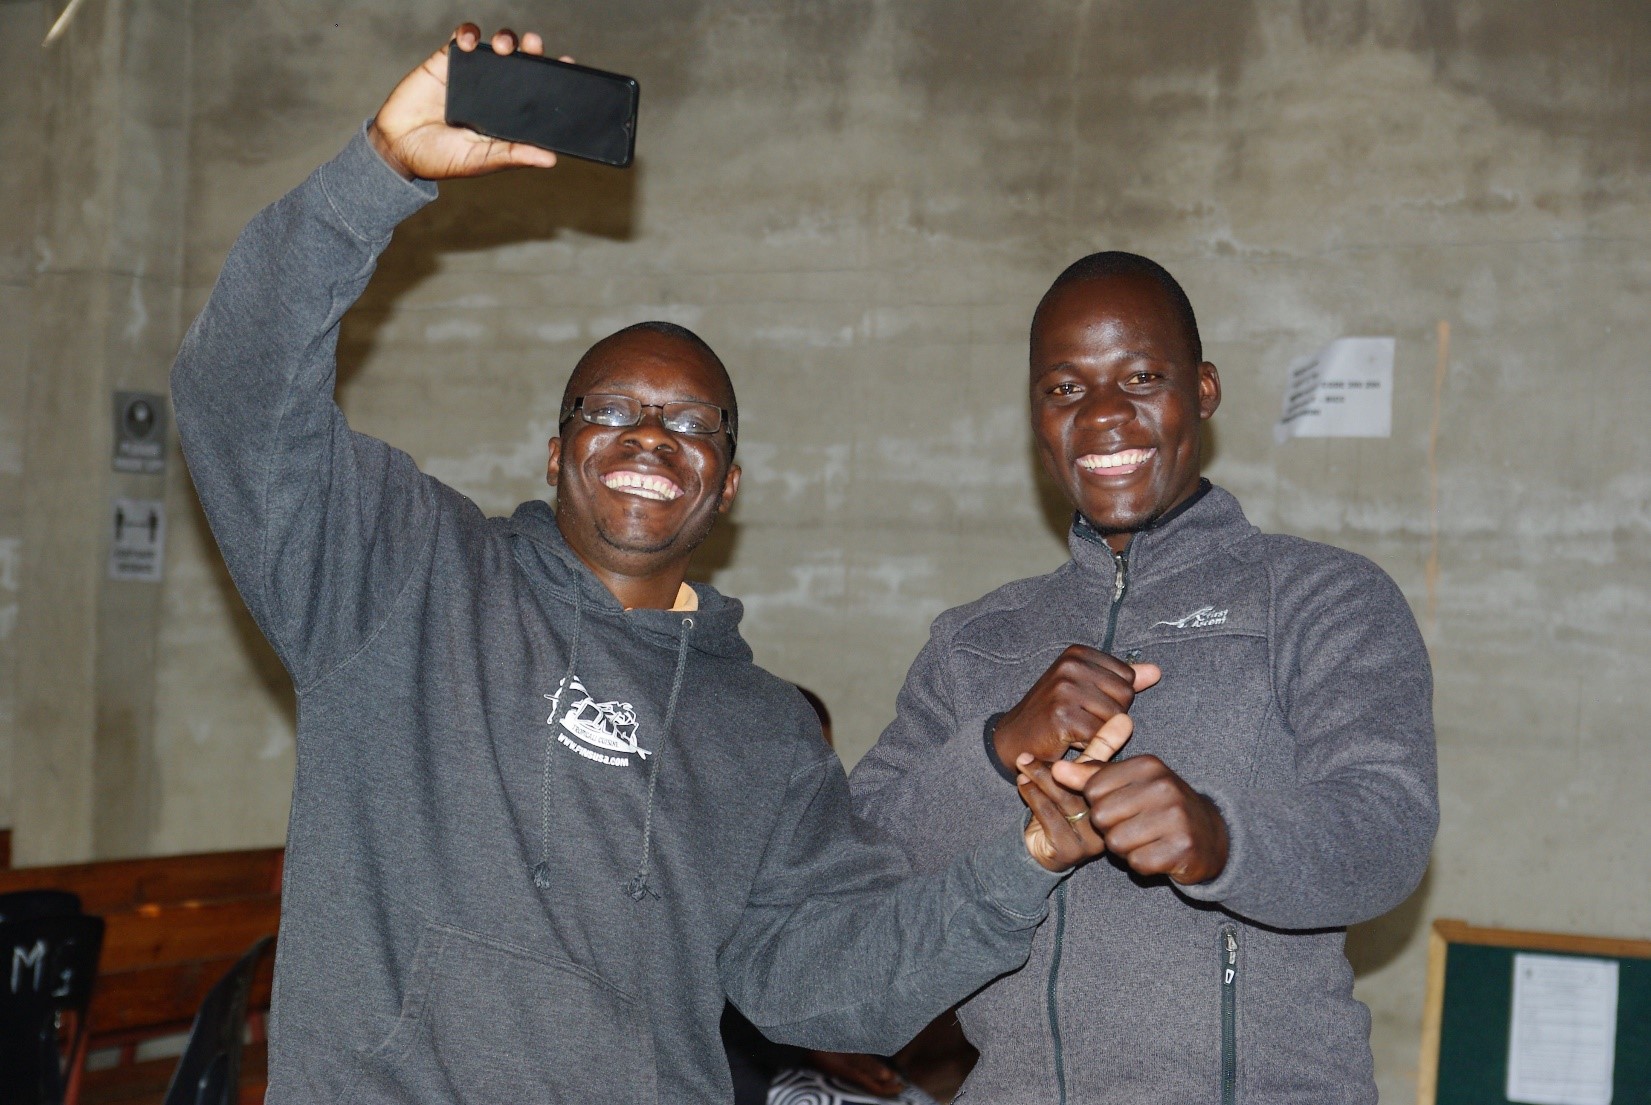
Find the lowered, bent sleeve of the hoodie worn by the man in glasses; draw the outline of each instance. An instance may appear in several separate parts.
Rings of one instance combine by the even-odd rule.
[[[741,923],[718,955],[728,998],[781,1044],[890,1054],[1022,966],[1062,875],[1020,819],[913,874],[849,811],[835,756],[791,776]]]

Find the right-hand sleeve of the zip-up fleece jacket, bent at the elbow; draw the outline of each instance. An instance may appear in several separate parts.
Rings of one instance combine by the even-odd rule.
[[[1393,908],[1438,829],[1433,676],[1403,595],[1362,557],[1275,571],[1273,692],[1296,740],[1289,786],[1213,786],[1227,867],[1182,887],[1280,928]]]

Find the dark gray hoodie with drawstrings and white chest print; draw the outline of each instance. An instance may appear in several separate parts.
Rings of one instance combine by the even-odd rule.
[[[271,1105],[726,1102],[725,998],[888,1050],[1025,961],[1022,813],[910,875],[741,606],[624,611],[334,403],[338,320],[434,195],[363,137],[243,231],[173,370],[190,474],[292,674]]]

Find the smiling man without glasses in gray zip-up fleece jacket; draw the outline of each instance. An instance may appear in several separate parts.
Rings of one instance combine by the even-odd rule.
[[[1068,268],[1030,358],[1071,560],[934,621],[850,783],[938,870],[1014,811],[1015,768],[1080,755],[1053,775],[1108,854],[963,1008],[963,1097],[1375,1102],[1342,940],[1415,889],[1438,824],[1410,608],[1369,560],[1261,534],[1200,477],[1220,377],[1161,266]]]

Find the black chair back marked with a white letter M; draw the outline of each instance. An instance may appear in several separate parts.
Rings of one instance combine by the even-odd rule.
[[[0,956],[5,956],[0,960],[0,1087],[7,1105],[63,1102],[86,1057],[86,1008],[97,978],[102,933],[102,918],[84,913],[0,920]]]

